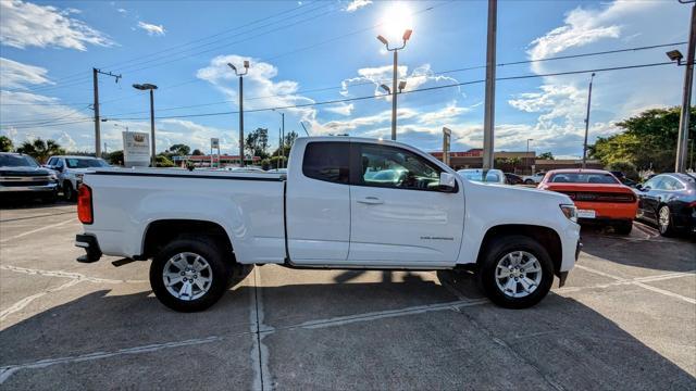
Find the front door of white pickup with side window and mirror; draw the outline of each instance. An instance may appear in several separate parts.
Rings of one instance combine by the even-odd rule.
[[[456,192],[440,191],[442,168],[407,149],[352,144],[357,162],[350,186],[348,262],[413,267],[453,264],[464,224],[461,185]]]

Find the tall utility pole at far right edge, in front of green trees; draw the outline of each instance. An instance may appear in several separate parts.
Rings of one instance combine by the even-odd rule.
[[[685,3],[686,1],[681,1]],[[691,1],[693,2],[693,1]],[[688,51],[686,52],[686,70],[684,73],[684,94],[682,97],[682,115],[679,121],[679,138],[676,139],[676,162],[674,171],[686,171],[686,146],[688,144],[688,119],[691,115],[692,85],[694,83],[694,47],[696,46],[696,3],[692,5],[692,23],[688,33]]]

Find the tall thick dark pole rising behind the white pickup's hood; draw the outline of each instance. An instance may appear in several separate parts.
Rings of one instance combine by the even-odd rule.
[[[486,48],[486,100],[483,118],[483,169],[493,168],[496,112],[496,34],[498,0],[488,0],[488,39]],[[485,177],[486,174],[484,174]]]

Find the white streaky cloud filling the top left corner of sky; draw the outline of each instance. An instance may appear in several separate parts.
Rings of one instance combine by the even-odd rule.
[[[76,11],[20,0],[0,1],[0,43],[20,49],[55,47],[80,51],[87,50],[86,45],[114,45],[103,33],[70,16]]]

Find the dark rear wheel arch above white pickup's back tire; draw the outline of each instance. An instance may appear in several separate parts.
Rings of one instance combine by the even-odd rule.
[[[234,256],[229,235],[220,224],[203,219],[166,218],[153,220],[145,228],[140,258],[152,257],[175,238],[201,235],[214,238],[228,254]]]

